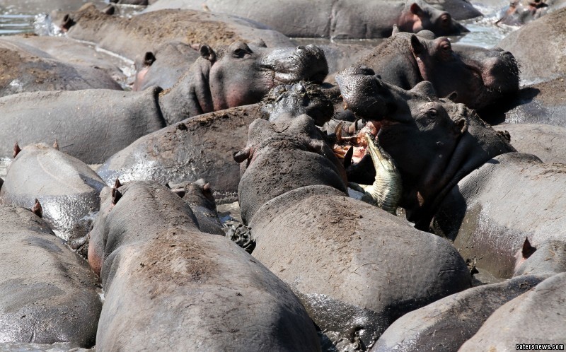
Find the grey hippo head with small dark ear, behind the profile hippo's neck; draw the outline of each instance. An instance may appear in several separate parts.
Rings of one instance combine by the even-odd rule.
[[[200,53],[183,42],[167,42],[135,60],[136,81],[132,90],[151,86],[173,87],[178,79],[200,57]]]

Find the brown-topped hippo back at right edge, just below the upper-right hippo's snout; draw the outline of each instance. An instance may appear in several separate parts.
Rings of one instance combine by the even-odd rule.
[[[548,124],[566,127],[564,78],[536,83],[519,90],[482,114],[491,124]]]

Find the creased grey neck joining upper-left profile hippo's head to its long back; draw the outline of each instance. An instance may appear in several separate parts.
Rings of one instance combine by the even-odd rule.
[[[206,59],[197,59],[175,86],[159,95],[159,107],[168,125],[214,111],[209,87],[211,66]]]

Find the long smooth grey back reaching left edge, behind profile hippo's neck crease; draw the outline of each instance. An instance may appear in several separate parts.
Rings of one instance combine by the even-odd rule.
[[[11,157],[15,141],[25,146],[57,139],[70,156],[102,163],[139,137],[165,127],[160,91],[87,89],[0,98],[0,156]]]

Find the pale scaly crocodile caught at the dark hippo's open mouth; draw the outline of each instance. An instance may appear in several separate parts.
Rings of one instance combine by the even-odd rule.
[[[400,172],[395,167],[391,156],[383,151],[377,139],[374,141],[370,134],[364,134],[364,139],[367,142],[369,156],[371,156],[376,169],[376,178],[374,184],[370,186],[359,185],[364,189],[362,201],[374,204],[384,211],[396,215],[403,190]]]

